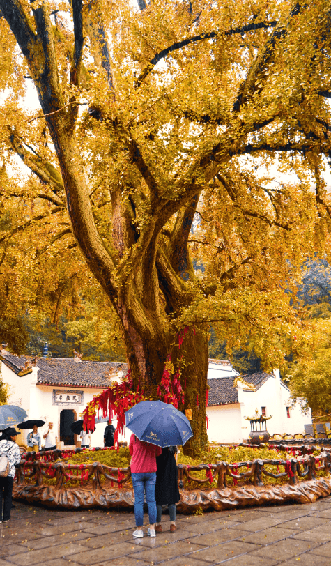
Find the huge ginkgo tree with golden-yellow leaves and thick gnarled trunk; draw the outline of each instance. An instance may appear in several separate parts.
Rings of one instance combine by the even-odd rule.
[[[199,450],[208,323],[230,347],[250,335],[265,367],[282,365],[299,324],[285,289],[307,256],[328,254],[330,4],[0,10],[6,302],[33,296],[38,309],[36,289],[52,289],[54,304],[99,286],[135,388],[156,395],[165,362],[180,366],[187,451]]]

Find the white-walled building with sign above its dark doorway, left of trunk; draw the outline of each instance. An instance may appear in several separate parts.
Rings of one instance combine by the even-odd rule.
[[[31,419],[53,422],[61,448],[78,445],[79,436],[72,434],[70,424],[82,418],[82,411],[95,395],[107,389],[111,381],[128,372],[120,362],[92,362],[75,358],[33,358],[0,352],[3,381],[10,385],[10,404],[22,406]],[[116,422],[113,423],[116,427]],[[96,425],[91,446],[103,446],[106,421]],[[40,427],[43,434],[47,425]],[[17,437],[26,443],[29,431]],[[125,440],[125,438],[120,438]],[[45,443],[42,438],[42,443]]]

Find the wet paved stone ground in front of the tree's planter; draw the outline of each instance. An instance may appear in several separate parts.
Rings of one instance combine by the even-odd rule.
[[[132,512],[15,505],[10,523],[0,525],[0,566],[331,566],[331,497],[178,515],[174,535],[164,515],[162,535],[137,540]]]

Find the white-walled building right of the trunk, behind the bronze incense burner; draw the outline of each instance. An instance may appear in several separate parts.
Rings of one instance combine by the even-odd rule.
[[[209,360],[213,376],[208,370],[209,397],[207,407],[208,438],[210,442],[233,443],[248,438],[250,425],[245,417],[259,413],[272,418],[267,422],[270,434],[305,433],[304,425],[311,424],[311,411],[302,413],[300,404],[292,406],[287,385],[279,370],[271,374],[259,372],[238,376],[231,362]],[[217,374],[216,367],[220,367]],[[225,368],[225,371],[224,371]]]

